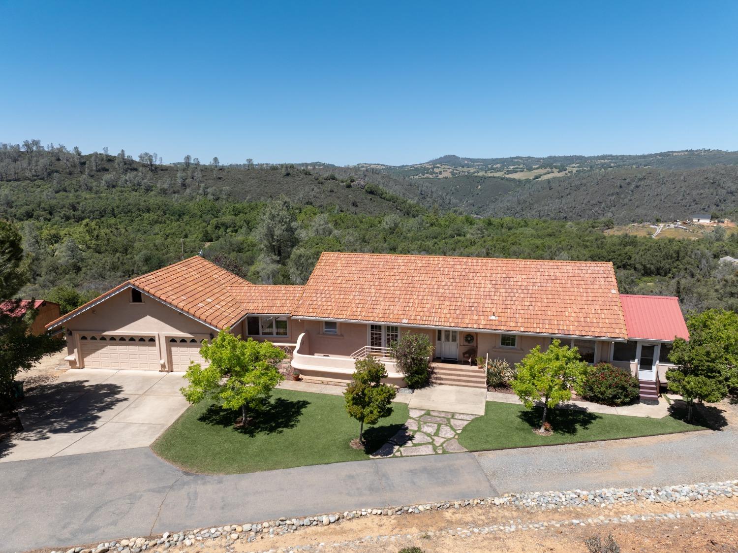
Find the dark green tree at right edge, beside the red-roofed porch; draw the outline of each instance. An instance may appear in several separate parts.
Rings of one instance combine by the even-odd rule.
[[[687,317],[689,342],[674,340],[666,371],[669,391],[680,394],[692,420],[694,400],[719,402],[738,388],[738,313],[708,309]]]

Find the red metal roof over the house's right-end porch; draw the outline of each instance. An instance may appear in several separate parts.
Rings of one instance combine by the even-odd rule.
[[[674,337],[689,340],[689,331],[679,298],[621,294],[629,340],[671,342]]]

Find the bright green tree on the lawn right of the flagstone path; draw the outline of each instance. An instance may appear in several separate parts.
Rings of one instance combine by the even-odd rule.
[[[520,363],[515,364],[517,377],[511,387],[528,409],[542,402],[541,431],[544,430],[548,408],[571,399],[571,389],[581,382],[589,365],[579,357],[577,348],[551,342],[546,351],[541,346],[531,349]]]

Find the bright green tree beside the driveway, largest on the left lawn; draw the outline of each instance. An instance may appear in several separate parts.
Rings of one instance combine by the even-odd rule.
[[[258,411],[284,377],[277,363],[285,353],[271,342],[244,342],[230,329],[223,329],[211,343],[200,348],[201,356],[210,363],[202,367],[190,363],[184,377],[190,382],[180,388],[190,403],[202,399],[218,402],[227,409],[241,409],[241,424],[246,425],[249,412]]]

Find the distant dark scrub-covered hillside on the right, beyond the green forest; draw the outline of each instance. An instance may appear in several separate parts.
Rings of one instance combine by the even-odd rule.
[[[466,213],[617,223],[728,215],[738,208],[738,165],[689,170],[617,168],[548,180],[458,176],[424,179]]]

